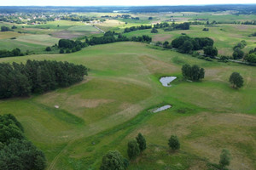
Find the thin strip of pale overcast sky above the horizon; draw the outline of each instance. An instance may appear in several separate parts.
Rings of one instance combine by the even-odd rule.
[[[0,6],[147,6],[256,3],[255,0],[0,0]]]

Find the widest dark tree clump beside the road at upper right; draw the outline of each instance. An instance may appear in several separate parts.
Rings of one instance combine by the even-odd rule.
[[[209,37],[188,37],[180,36],[172,40],[172,48],[177,48],[179,52],[190,54],[194,50],[213,46],[213,40]]]

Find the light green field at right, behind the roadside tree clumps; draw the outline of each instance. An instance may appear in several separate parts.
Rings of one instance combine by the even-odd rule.
[[[143,36],[149,35],[153,37],[153,42],[164,42],[172,40],[186,33],[189,37],[210,37],[213,39],[215,46],[218,48],[218,54],[232,55],[233,47],[241,40],[247,42],[246,48],[243,50],[248,52],[250,49],[256,48],[255,37],[248,37],[256,30],[256,26],[245,25],[218,25],[217,27],[209,27],[209,31],[202,31],[205,26],[190,26],[189,30],[181,31],[163,31],[158,29],[158,33],[151,33],[150,29],[141,31],[131,31],[125,33],[125,36]]]

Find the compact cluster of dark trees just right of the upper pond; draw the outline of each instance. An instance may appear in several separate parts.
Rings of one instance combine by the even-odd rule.
[[[198,65],[183,65],[182,72],[183,77],[188,78],[191,81],[200,81],[205,77],[205,70]]]

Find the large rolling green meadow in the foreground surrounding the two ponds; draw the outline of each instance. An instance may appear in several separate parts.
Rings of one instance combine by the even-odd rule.
[[[90,68],[84,82],[70,88],[0,100],[0,114],[18,118],[26,137],[44,150],[48,169],[98,169],[108,150],[119,150],[127,158],[127,142],[139,132],[148,149],[129,169],[207,169],[208,162],[218,163],[224,148],[232,155],[230,169],[256,168],[256,67],[210,62],[139,42],[0,62],[26,59],[55,59]],[[181,67],[186,63],[205,68],[205,79],[183,81]],[[244,77],[239,90],[228,82],[233,71]],[[162,76],[177,80],[165,88],[159,82]],[[172,109],[148,112],[164,104]],[[167,145],[172,134],[181,142],[176,153]]]

